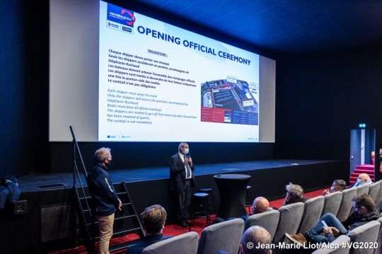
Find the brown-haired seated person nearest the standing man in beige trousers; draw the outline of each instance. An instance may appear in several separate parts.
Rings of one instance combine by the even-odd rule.
[[[130,246],[126,253],[141,254],[142,250],[153,243],[170,238],[171,236],[163,236],[162,231],[166,222],[166,210],[159,204],[154,204],[151,207],[146,207],[141,213],[142,224],[146,236],[138,243]]]

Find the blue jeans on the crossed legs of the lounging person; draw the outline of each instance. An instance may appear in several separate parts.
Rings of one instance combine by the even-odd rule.
[[[328,243],[328,239],[325,236],[321,236],[321,233],[323,233],[323,224],[321,221],[325,221],[328,226],[335,227],[341,233],[347,233],[345,226],[342,225],[342,223],[333,214],[324,214],[316,225],[306,232],[316,243]]]

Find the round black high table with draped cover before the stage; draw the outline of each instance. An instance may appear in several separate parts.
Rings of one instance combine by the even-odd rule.
[[[228,219],[247,214],[244,201],[250,178],[241,174],[214,175],[220,194],[219,217]]]

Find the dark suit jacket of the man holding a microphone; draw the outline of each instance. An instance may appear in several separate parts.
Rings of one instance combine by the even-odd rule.
[[[174,154],[170,161],[168,162],[168,166],[170,167],[170,190],[180,192],[185,187],[185,164],[180,158],[179,154]],[[192,187],[195,187],[194,180],[194,164],[190,166],[192,171],[191,184]]]

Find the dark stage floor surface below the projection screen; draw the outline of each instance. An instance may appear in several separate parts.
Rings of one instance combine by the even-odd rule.
[[[263,168],[282,168],[317,163],[328,163],[329,161],[308,160],[267,160],[267,161],[238,161],[235,163],[214,163],[195,166],[195,176],[212,175],[219,173],[238,173],[240,171],[253,171]],[[135,168],[110,170],[113,183],[126,183],[158,180],[169,178],[168,167]],[[84,178],[82,179],[85,183]],[[52,185],[52,187],[46,187]],[[19,179],[21,192],[37,192],[45,190],[59,190],[73,186],[72,173],[33,173]]]

